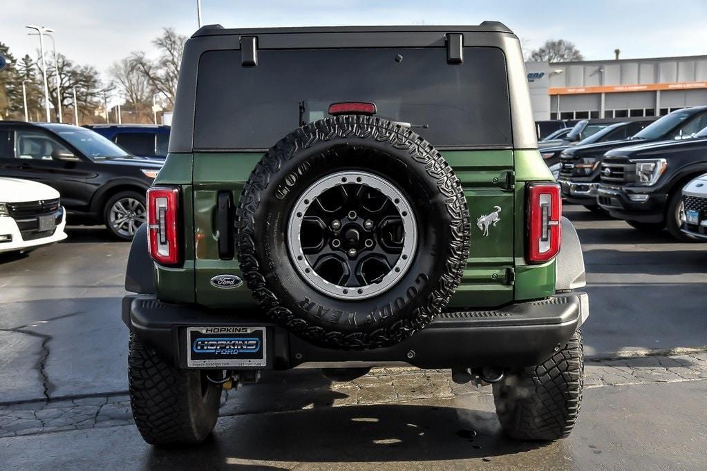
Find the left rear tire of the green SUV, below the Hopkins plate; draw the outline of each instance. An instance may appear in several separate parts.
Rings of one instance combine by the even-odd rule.
[[[152,445],[196,444],[216,425],[221,386],[202,371],[177,369],[130,334],[130,405],[137,429]]]

